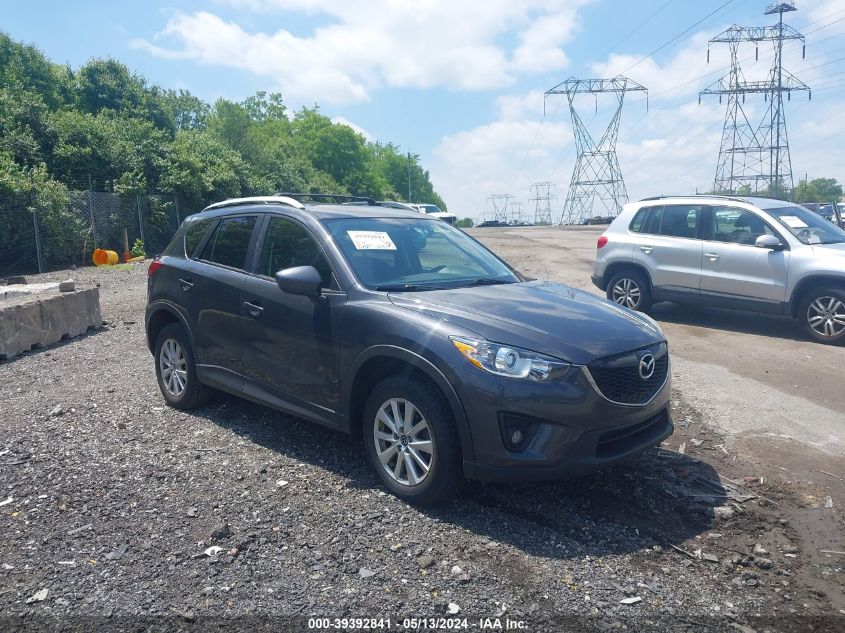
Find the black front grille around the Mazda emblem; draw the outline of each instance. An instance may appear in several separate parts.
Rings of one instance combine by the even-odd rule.
[[[643,354],[654,356],[654,373],[647,379],[640,376],[640,359]],[[669,350],[664,343],[648,348],[600,358],[587,366],[593,382],[608,400],[620,404],[645,404],[651,400],[669,371]]]

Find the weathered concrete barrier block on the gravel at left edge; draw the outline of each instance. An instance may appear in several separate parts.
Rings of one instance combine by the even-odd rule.
[[[102,326],[100,291],[45,292],[0,301],[0,360]]]

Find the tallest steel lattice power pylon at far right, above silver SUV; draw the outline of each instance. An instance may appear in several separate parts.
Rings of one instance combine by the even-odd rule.
[[[775,198],[791,195],[792,161],[783,95],[786,94],[789,100],[793,92],[810,91],[804,82],[783,67],[784,42],[799,40],[802,57],[804,54],[804,36],[783,23],[783,14],[795,10],[795,2],[791,0],[775,2],[765,13],[778,15],[778,23],[774,26],[734,25],[710,40],[711,44],[727,44],[731,53],[730,72],[702,90],[698,97],[701,102],[702,95],[719,95],[720,103],[722,95],[728,97],[713,183],[716,193],[762,193]],[[756,59],[759,59],[760,42],[771,42],[774,49],[774,61],[764,81],[748,81],[742,72],[740,45],[750,42],[755,45]],[[710,60],[709,47],[707,59]],[[746,110],[745,95],[761,93],[767,104],[766,111],[760,123],[752,123],[753,110]]]

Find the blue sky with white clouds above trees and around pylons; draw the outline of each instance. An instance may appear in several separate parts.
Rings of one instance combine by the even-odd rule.
[[[698,105],[726,51],[707,40],[732,23],[762,25],[766,0],[211,0],[8,2],[2,30],[78,67],[115,57],[149,81],[213,101],[278,91],[422,156],[450,208],[478,217],[491,193],[527,201],[529,185],[565,196],[574,161],[568,109],[542,92],[569,76],[621,71],[631,95],[619,158],[632,198],[710,186],[724,110]],[[807,59],[787,65],[814,90],[787,111],[797,175],[845,178],[845,0],[798,0]],[[751,55],[753,50],[749,49]],[[763,72],[761,62],[749,73]],[[645,58],[645,59],[644,59]],[[838,74],[838,75],[837,75]],[[581,102],[594,129],[609,101]],[[837,118],[838,117],[838,118]],[[527,204],[524,208],[527,208]]]

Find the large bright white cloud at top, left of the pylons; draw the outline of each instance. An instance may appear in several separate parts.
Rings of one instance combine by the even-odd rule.
[[[242,10],[307,12],[328,23],[308,35],[248,32],[207,11],[176,12],[132,44],[274,79],[294,101],[365,101],[380,86],[486,90],[517,75],[561,70],[562,45],[590,0],[223,0]],[[515,40],[509,49],[503,41]]]

